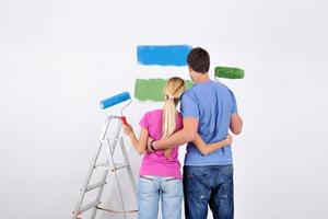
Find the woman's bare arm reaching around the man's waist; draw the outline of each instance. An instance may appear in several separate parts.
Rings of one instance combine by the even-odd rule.
[[[220,148],[223,148],[224,146],[232,143],[232,137],[231,135],[227,135],[226,138],[222,141],[218,141],[214,143],[207,145],[201,137],[197,134],[195,140],[192,143],[198,148],[198,150],[203,154],[207,155],[211,152],[214,152],[215,150],[219,150]]]

